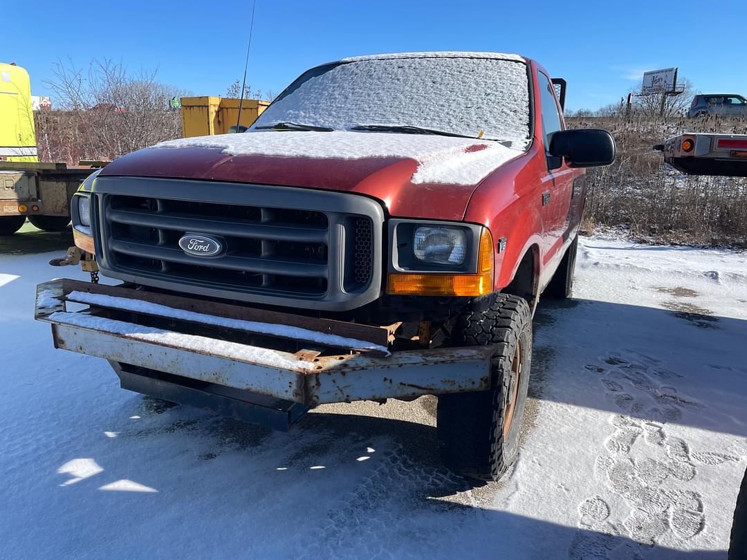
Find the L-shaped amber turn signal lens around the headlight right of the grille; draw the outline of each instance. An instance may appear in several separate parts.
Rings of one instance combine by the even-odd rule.
[[[386,293],[398,296],[485,296],[493,291],[493,237],[483,228],[477,274],[391,273]]]

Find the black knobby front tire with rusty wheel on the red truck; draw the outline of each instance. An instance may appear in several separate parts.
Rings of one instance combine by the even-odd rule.
[[[486,311],[456,318],[451,346],[494,346],[488,391],[438,396],[436,431],[444,463],[497,481],[515,461],[527,400],[532,314],[526,300],[499,293]]]

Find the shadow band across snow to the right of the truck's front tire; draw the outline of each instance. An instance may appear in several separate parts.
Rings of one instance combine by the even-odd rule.
[[[663,306],[543,302],[530,394],[747,437],[747,320]]]

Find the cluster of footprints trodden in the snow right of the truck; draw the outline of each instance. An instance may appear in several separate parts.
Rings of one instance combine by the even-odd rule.
[[[623,414],[610,418],[612,434],[604,441],[604,452],[595,461],[595,472],[611,494],[622,497],[627,512],[617,515],[599,495],[578,506],[579,528],[568,557],[573,560],[608,559],[619,556],[644,559],[649,547],[667,533],[686,541],[701,532],[706,523],[703,501],[684,485],[695,479],[697,464],[716,465],[739,461],[739,457],[711,451],[691,451],[681,438],[666,433],[666,422],[678,420],[683,411],[702,408],[671,385],[656,379],[676,379],[681,374],[660,368],[660,362],[642,355],[612,353],[607,366],[586,366],[601,374],[605,395]],[[627,414],[626,414],[627,413]],[[633,417],[630,414],[644,417]],[[653,456],[633,456],[641,442]],[[639,454],[638,454],[639,455]],[[630,544],[630,540],[640,544]],[[619,550],[633,547],[634,550]]]

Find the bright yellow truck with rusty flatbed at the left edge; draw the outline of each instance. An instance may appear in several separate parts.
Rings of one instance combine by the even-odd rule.
[[[39,162],[28,72],[0,63],[0,235],[27,218],[46,231],[67,228],[70,199],[94,170]]]

